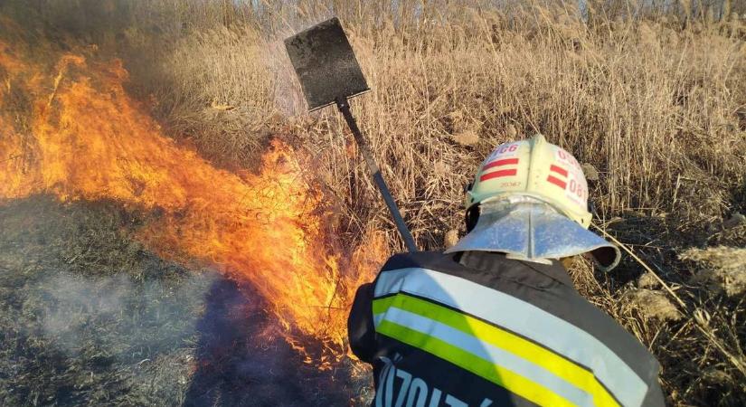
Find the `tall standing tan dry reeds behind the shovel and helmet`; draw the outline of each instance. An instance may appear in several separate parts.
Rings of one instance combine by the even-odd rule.
[[[598,168],[606,218],[632,210],[685,227],[741,199],[742,40],[651,22],[590,31],[564,13],[347,27],[374,90],[355,100],[357,114],[421,243],[439,247],[445,226],[460,222],[462,185],[511,129],[543,132]],[[312,150],[338,196],[374,197],[334,109],[303,115],[285,34],[220,26],[180,40],[160,70],[132,70],[166,123],[205,151],[250,160],[258,139],[281,131]],[[364,185],[349,190],[351,174]],[[347,204],[366,219],[370,202]]]

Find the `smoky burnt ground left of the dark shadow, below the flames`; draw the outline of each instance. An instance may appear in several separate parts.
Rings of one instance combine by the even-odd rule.
[[[222,276],[144,251],[122,229],[137,222],[113,203],[0,204],[0,404],[183,396],[205,296]]]

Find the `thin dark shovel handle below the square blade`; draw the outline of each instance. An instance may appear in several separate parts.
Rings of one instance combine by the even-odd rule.
[[[386,203],[386,206],[389,207],[389,212],[392,213],[393,222],[396,223],[396,229],[398,229],[399,233],[401,234],[401,240],[404,241],[404,244],[407,246],[407,249],[410,252],[413,253],[415,251],[418,251],[417,243],[414,242],[414,238],[412,238],[411,232],[409,228],[407,228],[407,223],[405,223],[404,219],[401,217],[399,207],[396,205],[396,202],[394,202],[393,196],[391,192],[389,192],[389,187],[383,180],[381,169],[378,167],[378,164],[375,163],[375,159],[373,159],[373,152],[371,152],[370,147],[368,147],[368,143],[365,142],[365,138],[363,137],[363,133],[360,131],[360,128],[357,127],[357,122],[355,122],[354,120],[353,113],[350,110],[349,102],[346,98],[337,99],[336,107],[339,108],[339,111],[342,112],[342,116],[345,117],[347,126],[353,132],[354,141],[357,143],[357,147],[359,147],[360,151],[363,153],[365,163],[367,163],[368,169],[371,171],[371,174],[373,174],[373,181],[375,181],[375,185],[378,186],[378,190],[381,191],[383,201]]]

